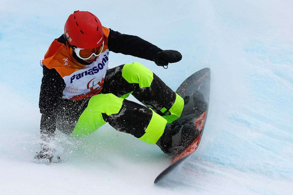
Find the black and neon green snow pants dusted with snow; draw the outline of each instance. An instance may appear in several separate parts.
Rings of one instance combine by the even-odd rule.
[[[125,99],[130,94],[145,106]],[[109,122],[118,131],[156,144],[183,106],[183,99],[142,64],[120,65],[107,71],[102,91],[90,98],[71,135],[88,135]]]

